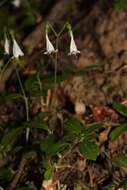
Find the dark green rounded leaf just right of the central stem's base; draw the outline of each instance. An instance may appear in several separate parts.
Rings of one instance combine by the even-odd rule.
[[[63,125],[64,129],[72,135],[80,136],[83,133],[83,126],[80,121],[76,119],[70,119]]]

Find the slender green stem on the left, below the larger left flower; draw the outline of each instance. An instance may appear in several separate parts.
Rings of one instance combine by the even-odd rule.
[[[20,85],[20,88],[21,88],[21,91],[22,91],[23,98],[24,98],[25,108],[26,108],[26,121],[28,122],[29,121],[28,98],[26,96],[26,93],[25,93],[25,90],[23,88],[22,81],[21,81],[21,78],[20,78],[20,75],[19,75],[19,72],[18,72],[17,69],[16,69],[16,75],[17,75],[17,78],[18,78],[18,81],[19,81],[19,85]],[[26,141],[29,140],[29,133],[30,133],[30,128],[26,128]]]

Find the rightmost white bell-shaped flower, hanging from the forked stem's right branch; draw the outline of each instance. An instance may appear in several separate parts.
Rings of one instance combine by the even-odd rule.
[[[76,55],[77,53],[80,53],[80,51],[77,49],[77,46],[74,41],[73,33],[70,33],[71,35],[71,43],[70,43],[70,53],[68,55]]]

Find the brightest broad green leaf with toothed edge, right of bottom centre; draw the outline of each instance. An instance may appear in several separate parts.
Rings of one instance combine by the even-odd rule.
[[[99,147],[93,142],[82,142],[79,145],[81,154],[88,160],[96,160],[99,155]]]

